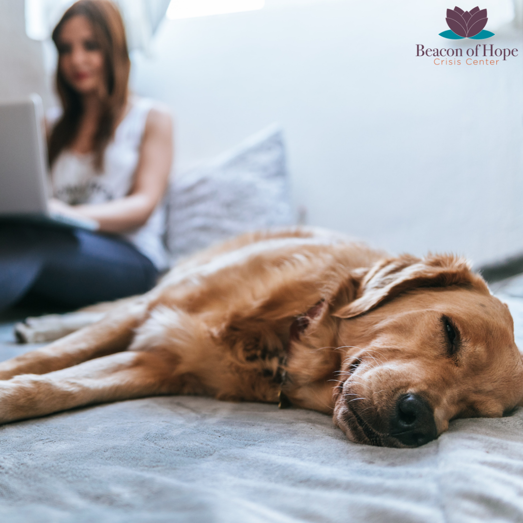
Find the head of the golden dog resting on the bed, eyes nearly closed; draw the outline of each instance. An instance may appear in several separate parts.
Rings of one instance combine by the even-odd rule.
[[[402,256],[357,277],[357,299],[334,311],[346,345],[334,420],[350,440],[417,447],[521,401],[512,317],[463,259]]]

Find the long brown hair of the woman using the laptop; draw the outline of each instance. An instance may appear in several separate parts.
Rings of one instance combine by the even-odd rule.
[[[118,8],[109,0],[79,0],[66,10],[53,31],[53,42],[60,55],[60,32],[67,20],[84,16],[93,27],[94,37],[104,54],[105,88],[100,93],[102,110],[94,135],[94,166],[101,170],[104,151],[116,130],[116,123],[127,103],[131,62],[127,51],[126,32]],[[63,149],[69,147],[78,133],[83,115],[82,97],[56,70],[56,88],[62,101],[63,114],[49,137],[49,164],[52,165]]]

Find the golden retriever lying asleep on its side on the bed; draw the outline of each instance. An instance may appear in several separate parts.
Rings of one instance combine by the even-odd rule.
[[[351,441],[417,447],[523,396],[508,308],[465,260],[389,257],[321,230],[241,236],[79,314],[97,321],[0,363],[0,422],[204,394],[310,408]]]

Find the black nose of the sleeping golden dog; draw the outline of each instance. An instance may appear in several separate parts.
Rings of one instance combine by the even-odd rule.
[[[403,394],[396,402],[389,434],[403,445],[419,447],[438,435],[434,414],[427,400],[417,394]]]

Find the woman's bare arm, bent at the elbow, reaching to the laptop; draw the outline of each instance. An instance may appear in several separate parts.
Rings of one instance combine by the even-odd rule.
[[[100,231],[121,233],[143,225],[162,199],[173,158],[170,115],[151,109],[145,122],[134,186],[128,196],[105,203],[68,206],[51,200],[52,211],[96,220]]]

